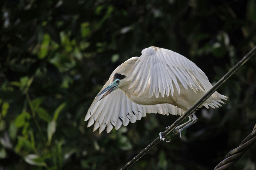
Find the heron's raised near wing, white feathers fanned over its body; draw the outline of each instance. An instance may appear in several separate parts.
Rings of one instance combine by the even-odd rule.
[[[212,85],[205,73],[195,63],[174,51],[149,47],[142,50],[142,55],[133,65],[126,81],[131,81],[129,88],[140,96],[147,84],[150,84],[149,97],[161,95],[173,96],[175,88],[180,94],[179,84],[185,89],[207,92]],[[213,97],[217,97],[216,93]]]

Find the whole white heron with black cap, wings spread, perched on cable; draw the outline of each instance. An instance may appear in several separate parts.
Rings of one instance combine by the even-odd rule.
[[[195,63],[174,51],[153,46],[141,53],[110,75],[86,114],[87,127],[94,124],[93,131],[99,128],[101,133],[106,128],[109,133],[146,113],[182,115],[212,87]],[[215,91],[201,107],[218,108],[224,103],[221,99],[228,97]],[[180,133],[196,121],[193,113],[175,130]]]

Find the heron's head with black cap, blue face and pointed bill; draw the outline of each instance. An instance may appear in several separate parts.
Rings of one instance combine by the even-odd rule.
[[[100,101],[101,99],[103,99],[104,97],[106,97],[107,95],[109,95],[112,91],[120,88],[123,86],[124,82],[125,82],[125,78],[126,75],[120,74],[120,73],[115,73],[112,79],[112,83],[108,85],[108,87],[106,87],[105,89],[103,89],[96,97],[100,96],[101,94],[106,93],[98,100]],[[95,97],[95,98],[96,98]]]

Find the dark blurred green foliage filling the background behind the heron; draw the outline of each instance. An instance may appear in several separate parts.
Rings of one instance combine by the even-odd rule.
[[[158,46],[217,82],[256,43],[254,0],[1,1],[0,169],[118,169],[177,116],[150,114],[102,134],[84,116],[112,71]],[[256,59],[200,109],[183,140],[161,142],[131,169],[213,169],[256,122]],[[256,145],[230,169],[255,169]]]

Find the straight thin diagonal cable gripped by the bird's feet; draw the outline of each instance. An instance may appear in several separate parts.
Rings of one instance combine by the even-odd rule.
[[[171,133],[182,121],[184,121],[190,114],[192,114],[202,103],[205,102],[215,91],[219,88],[231,75],[233,75],[244,63],[246,63],[256,52],[256,46],[247,53],[234,67],[232,67],[229,72],[227,72],[201,99],[199,99],[189,110],[187,110],[182,116],[179,117],[171,126],[169,126],[165,131],[163,138]],[[153,142],[151,142],[145,149],[143,149],[139,154],[137,154],[130,162],[121,168],[128,169],[138,160],[140,160],[148,151],[154,148],[159,142],[160,137],[158,136]]]

